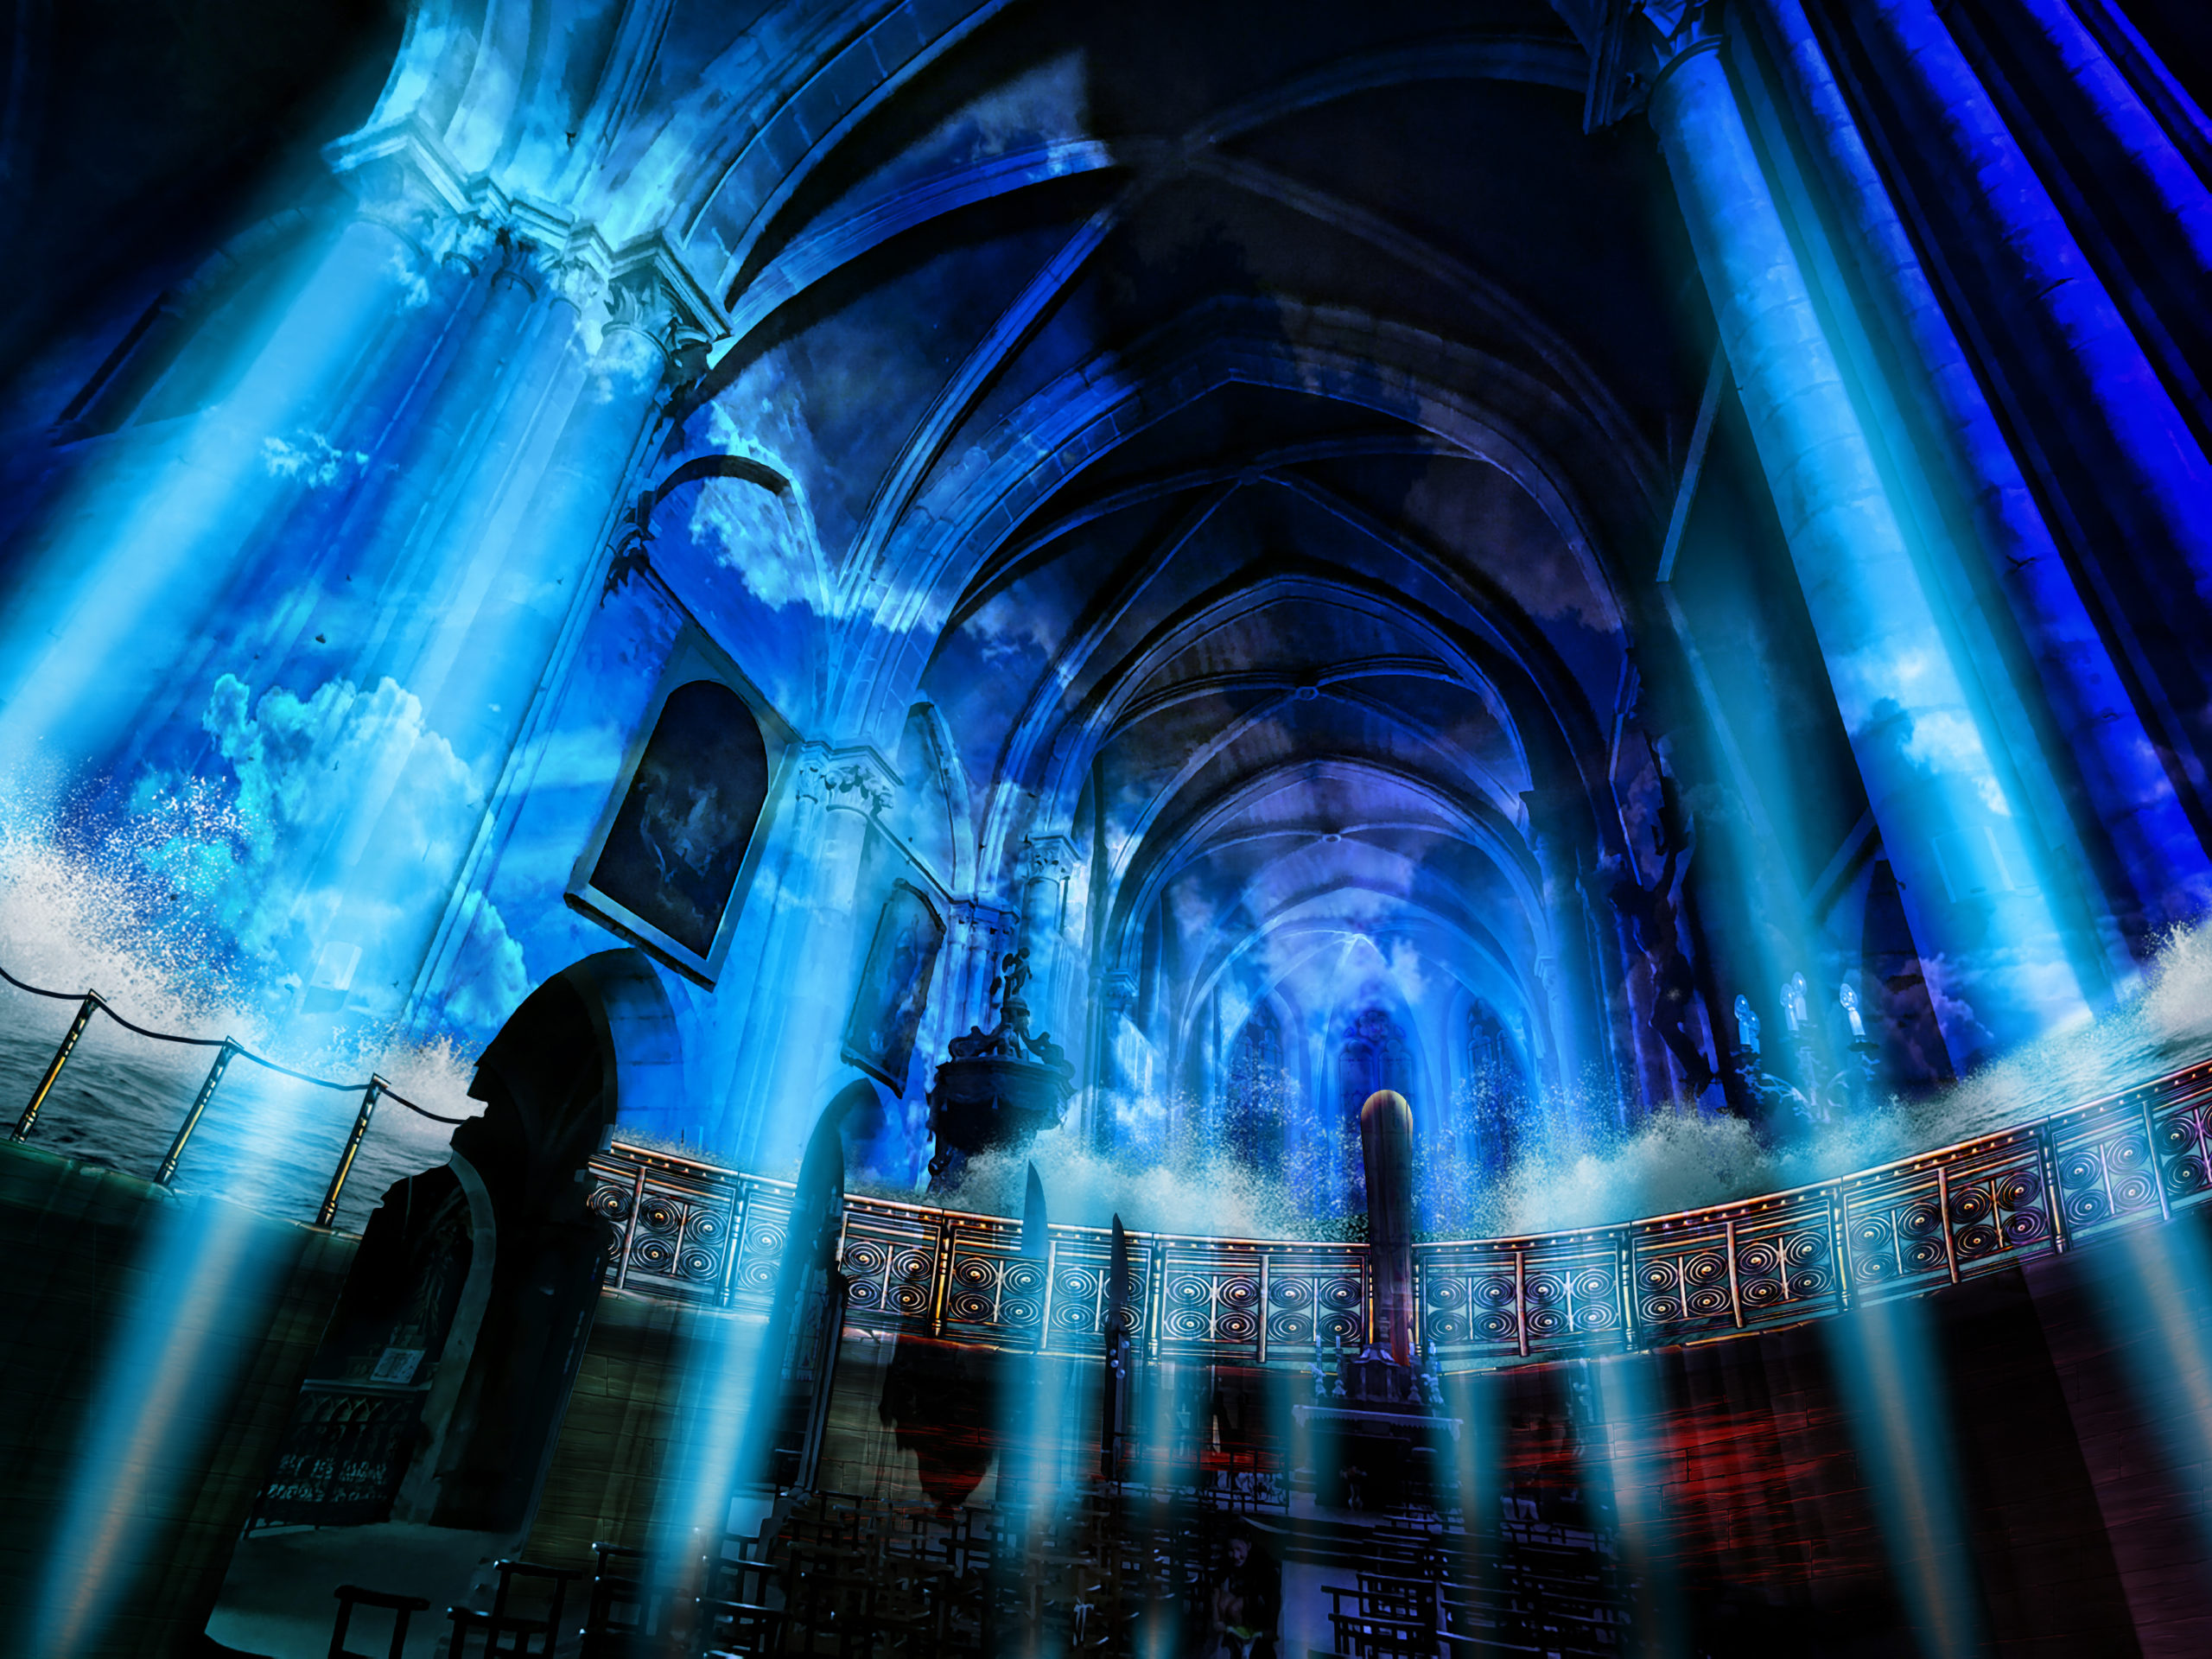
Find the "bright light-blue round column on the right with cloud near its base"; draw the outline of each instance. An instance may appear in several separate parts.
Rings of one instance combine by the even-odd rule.
[[[1650,119],[1913,938],[1944,991],[1944,1040],[1969,1060],[2086,1002],[2037,880],[2042,849],[1991,761],[1705,18],[1690,9],[1670,33]]]

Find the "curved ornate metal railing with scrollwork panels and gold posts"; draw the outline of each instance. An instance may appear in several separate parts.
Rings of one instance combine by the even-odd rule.
[[[1672,1347],[1840,1314],[2070,1250],[2212,1194],[2212,1062],[2020,1128],[1834,1181],[1606,1228],[1413,1245],[1416,1340],[1460,1369]],[[615,1141],[588,1203],[619,1230],[613,1287],[765,1310],[792,1186]],[[1095,1354],[1110,1239],[847,1197],[847,1323]],[[1347,1243],[1128,1234],[1121,1310],[1150,1358],[1312,1363],[1358,1343]]]

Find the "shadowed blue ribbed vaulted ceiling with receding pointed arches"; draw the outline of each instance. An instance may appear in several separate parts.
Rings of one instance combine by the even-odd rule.
[[[1526,1031],[1531,801],[1619,847],[1648,765],[1694,270],[1555,9],[1221,11],[1006,7],[708,197],[734,343],[664,460],[796,507],[712,482],[657,557],[803,723],[942,712],[980,891],[1104,849],[1073,931],[1175,1053],[1270,995]]]

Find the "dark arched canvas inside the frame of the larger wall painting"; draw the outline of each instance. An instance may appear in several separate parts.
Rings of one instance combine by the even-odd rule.
[[[768,748],[728,686],[695,679],[661,708],[591,885],[706,958],[768,799]]]

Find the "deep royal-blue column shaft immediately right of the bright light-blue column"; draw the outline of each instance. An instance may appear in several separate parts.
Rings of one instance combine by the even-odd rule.
[[[2046,7],[2046,0],[2028,2]],[[2203,843],[1936,299],[1801,0],[1761,0],[1761,11],[1783,84],[1856,237],[1860,270],[1905,358],[1918,369],[1909,376],[1911,389],[1944,440],[1944,460],[2035,657],[2057,730],[2128,878],[2128,894],[2112,894],[2112,902],[2132,909],[2128,931],[2141,942],[2166,922],[2194,918],[2212,898]]]

